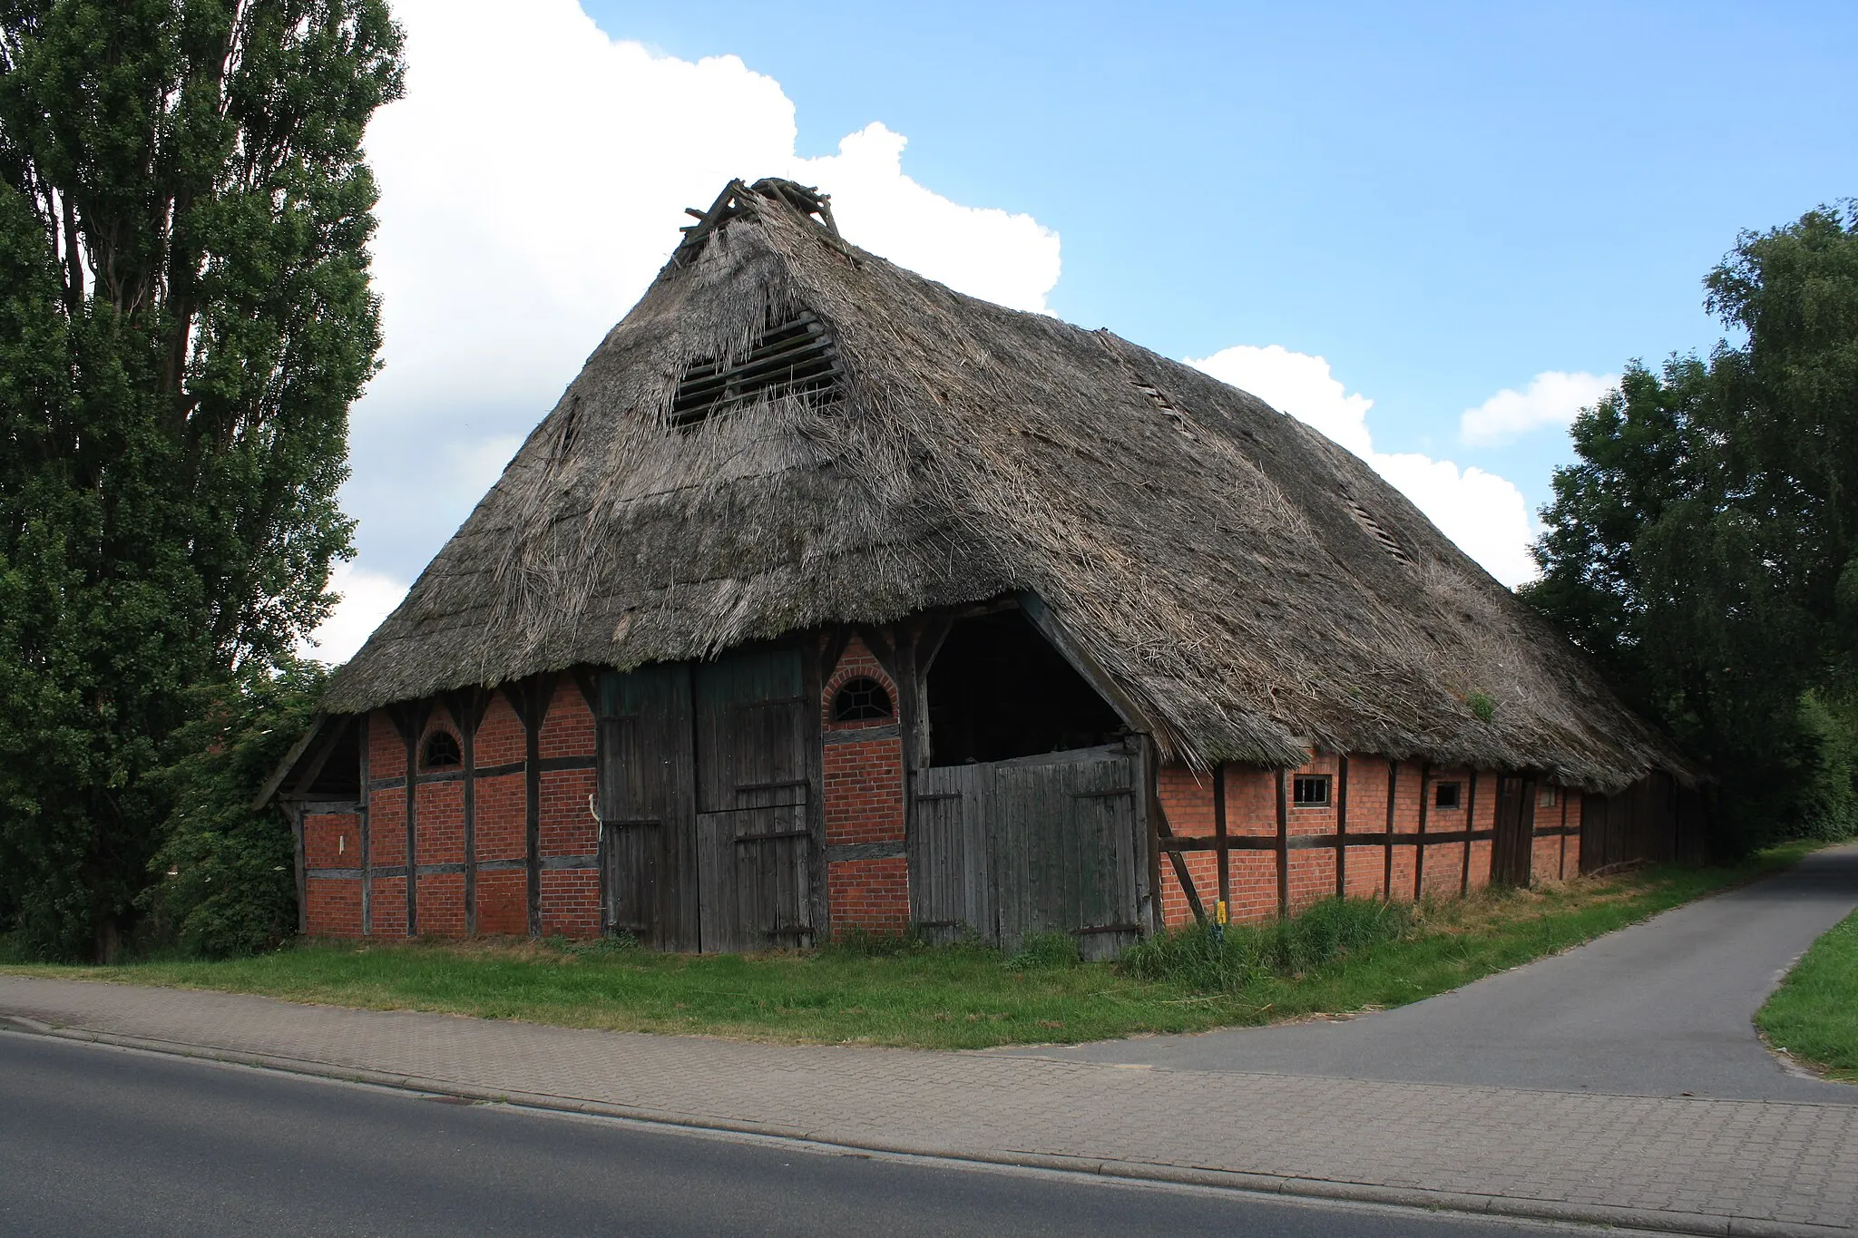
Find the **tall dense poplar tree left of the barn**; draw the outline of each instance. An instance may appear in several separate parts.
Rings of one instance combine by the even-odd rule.
[[[385,0],[0,0],[0,917],[108,954],[201,685],[349,553]]]

